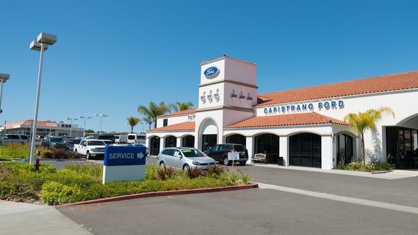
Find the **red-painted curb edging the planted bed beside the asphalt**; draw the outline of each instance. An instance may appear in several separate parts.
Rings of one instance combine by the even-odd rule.
[[[258,184],[250,183],[247,185],[235,185],[235,186],[226,186],[226,187],[219,187],[219,188],[196,188],[196,189],[186,189],[186,190],[144,192],[144,193],[138,193],[134,195],[121,195],[121,196],[116,196],[116,197],[105,197],[105,198],[100,198],[100,199],[93,199],[93,200],[84,201],[84,202],[73,202],[73,203],[68,203],[68,204],[61,204],[61,205],[56,205],[55,207],[78,206],[78,205],[95,204],[95,203],[102,203],[102,202],[117,202],[117,201],[123,201],[123,200],[128,200],[128,199],[138,199],[138,198],[146,198],[146,197],[189,195],[189,194],[204,193],[204,192],[226,192],[226,191],[235,191],[235,190],[245,190],[249,188],[258,188]]]

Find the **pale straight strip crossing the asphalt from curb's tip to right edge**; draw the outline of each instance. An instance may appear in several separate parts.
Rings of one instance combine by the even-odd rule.
[[[271,190],[279,190],[282,192],[291,192],[291,193],[295,193],[298,195],[306,195],[310,197],[329,199],[329,200],[338,201],[338,202],[347,202],[347,203],[357,204],[357,205],[362,205],[362,206],[372,206],[372,207],[377,207],[377,208],[387,209],[387,210],[392,210],[392,211],[413,213],[413,214],[418,215],[418,208],[412,207],[412,206],[403,206],[403,205],[386,203],[386,202],[359,199],[357,197],[344,197],[344,196],[339,196],[339,195],[332,195],[332,194],[325,193],[325,192],[314,192],[314,191],[309,191],[309,190],[302,190],[299,188],[288,188],[284,186],[272,185],[272,184],[267,184],[267,183],[258,183],[258,187],[271,189]]]

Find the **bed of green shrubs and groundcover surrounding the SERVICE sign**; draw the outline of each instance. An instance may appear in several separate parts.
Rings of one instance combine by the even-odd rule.
[[[146,165],[144,181],[113,182],[102,185],[102,167],[98,165],[68,165],[58,170],[42,164],[35,172],[26,162],[0,162],[0,199],[17,202],[40,202],[56,205],[103,197],[141,192],[215,188],[249,182],[249,176],[238,173],[203,174],[189,177],[176,169],[160,169]]]

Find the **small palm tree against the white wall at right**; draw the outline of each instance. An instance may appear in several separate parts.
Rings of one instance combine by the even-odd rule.
[[[359,112],[358,114],[350,113],[344,116],[344,121],[348,125],[357,130],[362,138],[362,162],[366,164],[366,154],[364,149],[364,132],[366,130],[376,130],[376,123],[385,115],[395,116],[394,112],[389,107],[380,107],[378,109],[368,109],[366,112]]]

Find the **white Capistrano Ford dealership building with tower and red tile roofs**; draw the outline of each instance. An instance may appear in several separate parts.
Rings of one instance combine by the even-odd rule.
[[[230,56],[201,62],[199,105],[164,114],[148,130],[151,155],[167,146],[206,150],[245,144],[251,158],[285,166],[333,169],[361,155],[359,133],[343,121],[349,113],[390,107],[376,132],[364,135],[366,156],[398,168],[418,167],[418,71],[355,79],[272,93],[257,93],[256,64]]]

